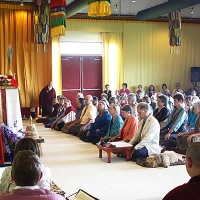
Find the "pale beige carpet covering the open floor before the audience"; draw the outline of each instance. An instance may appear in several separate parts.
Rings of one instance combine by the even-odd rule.
[[[114,154],[107,163],[106,153],[98,158],[95,145],[36,125],[45,139],[42,163],[50,167],[54,182],[67,196],[83,189],[101,200],[158,200],[189,180],[184,165],[143,168]]]

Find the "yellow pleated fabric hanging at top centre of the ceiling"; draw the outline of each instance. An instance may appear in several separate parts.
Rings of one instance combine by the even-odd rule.
[[[111,0],[88,0],[88,16],[103,17],[111,15]]]

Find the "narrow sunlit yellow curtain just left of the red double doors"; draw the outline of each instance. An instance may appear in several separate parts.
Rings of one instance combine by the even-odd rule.
[[[52,81],[57,94],[62,94],[60,36],[52,37]]]

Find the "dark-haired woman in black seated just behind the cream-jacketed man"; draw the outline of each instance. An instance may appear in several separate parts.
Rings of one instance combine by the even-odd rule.
[[[157,106],[158,108],[154,111],[153,116],[162,125],[170,114],[170,111],[167,109],[167,98],[164,95],[158,96]]]

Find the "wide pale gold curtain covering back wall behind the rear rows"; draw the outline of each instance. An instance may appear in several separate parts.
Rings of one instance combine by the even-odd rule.
[[[188,89],[190,68],[200,66],[199,35],[199,25],[182,23],[180,54],[170,54],[168,23],[124,23],[124,81],[131,91],[138,84],[160,91],[163,83],[172,91],[176,82]]]

